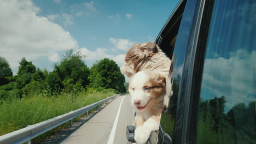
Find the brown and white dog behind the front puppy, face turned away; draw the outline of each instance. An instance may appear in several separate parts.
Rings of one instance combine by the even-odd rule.
[[[172,56],[172,59],[169,59],[155,43],[136,44],[126,52],[125,63],[121,68],[121,72],[128,77],[142,70],[150,70],[164,75],[167,88],[163,109],[166,111],[169,99],[172,95],[171,77],[173,61],[174,56]]]

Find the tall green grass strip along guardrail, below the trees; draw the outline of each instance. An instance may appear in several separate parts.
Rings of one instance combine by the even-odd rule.
[[[78,93],[61,93],[56,96],[39,93],[33,97],[0,101],[0,135],[63,115],[112,95],[115,93],[111,90],[96,92],[91,89]],[[68,125],[68,122],[62,124],[33,141],[37,143]]]

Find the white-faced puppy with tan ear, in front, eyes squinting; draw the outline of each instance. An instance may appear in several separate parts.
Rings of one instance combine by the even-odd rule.
[[[139,71],[129,83],[131,103],[135,109],[135,141],[146,143],[152,131],[159,129],[166,93],[165,76],[149,70]]]

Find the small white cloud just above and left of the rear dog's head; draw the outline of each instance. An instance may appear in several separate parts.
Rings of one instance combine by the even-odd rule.
[[[129,39],[115,39],[109,38],[110,43],[114,44],[119,50],[129,50],[135,43]]]

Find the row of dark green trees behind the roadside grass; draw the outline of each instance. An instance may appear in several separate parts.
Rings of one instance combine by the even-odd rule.
[[[43,91],[51,94],[79,92],[90,87],[97,91],[107,88],[115,89],[115,92],[126,92],[125,78],[114,61],[105,58],[89,69],[84,58],[80,52],[67,50],[61,62],[55,63],[54,70],[49,73],[46,69],[36,69],[32,62],[23,57],[19,61],[18,74],[4,76],[4,79],[12,83],[0,87],[0,100],[32,96],[35,92]],[[0,60],[3,67],[9,68],[4,58]]]

